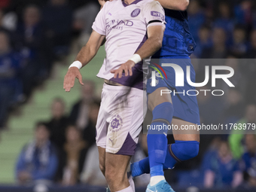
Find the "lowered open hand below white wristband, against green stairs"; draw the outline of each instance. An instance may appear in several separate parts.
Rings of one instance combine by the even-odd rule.
[[[69,92],[71,88],[74,87],[75,78],[78,78],[79,83],[81,85],[84,85],[82,80],[82,75],[79,72],[79,69],[77,67],[71,67],[69,68],[69,71],[67,72],[64,78],[63,89],[66,92]]]

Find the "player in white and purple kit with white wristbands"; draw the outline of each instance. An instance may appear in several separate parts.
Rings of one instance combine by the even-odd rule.
[[[102,1],[99,1],[102,2]],[[63,88],[69,92],[79,69],[96,55],[105,40],[106,57],[98,77],[105,80],[96,124],[99,166],[112,192],[134,192],[126,168],[134,154],[147,105],[143,98],[142,59],[160,49],[165,29],[164,11],[153,0],[106,2],[93,23],[93,32],[69,66]],[[123,64],[122,64],[123,63]],[[118,68],[126,74],[114,75]]]

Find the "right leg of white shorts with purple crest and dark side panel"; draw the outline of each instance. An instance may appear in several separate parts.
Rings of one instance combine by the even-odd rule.
[[[142,130],[146,102],[143,90],[119,87],[109,108],[106,152],[111,154],[133,155]]]

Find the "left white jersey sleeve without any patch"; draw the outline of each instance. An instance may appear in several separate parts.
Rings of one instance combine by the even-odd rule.
[[[105,22],[105,8],[107,3],[103,6],[102,10],[97,14],[95,21],[93,22],[93,30],[100,35],[106,35],[106,22]]]

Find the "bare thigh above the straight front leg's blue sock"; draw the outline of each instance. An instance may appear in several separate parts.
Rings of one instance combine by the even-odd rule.
[[[154,90],[153,93],[148,94],[148,108],[153,111],[157,105],[160,105],[163,102],[172,102],[171,94],[161,94],[163,92],[168,92],[169,89],[166,87],[159,87],[157,90]]]

